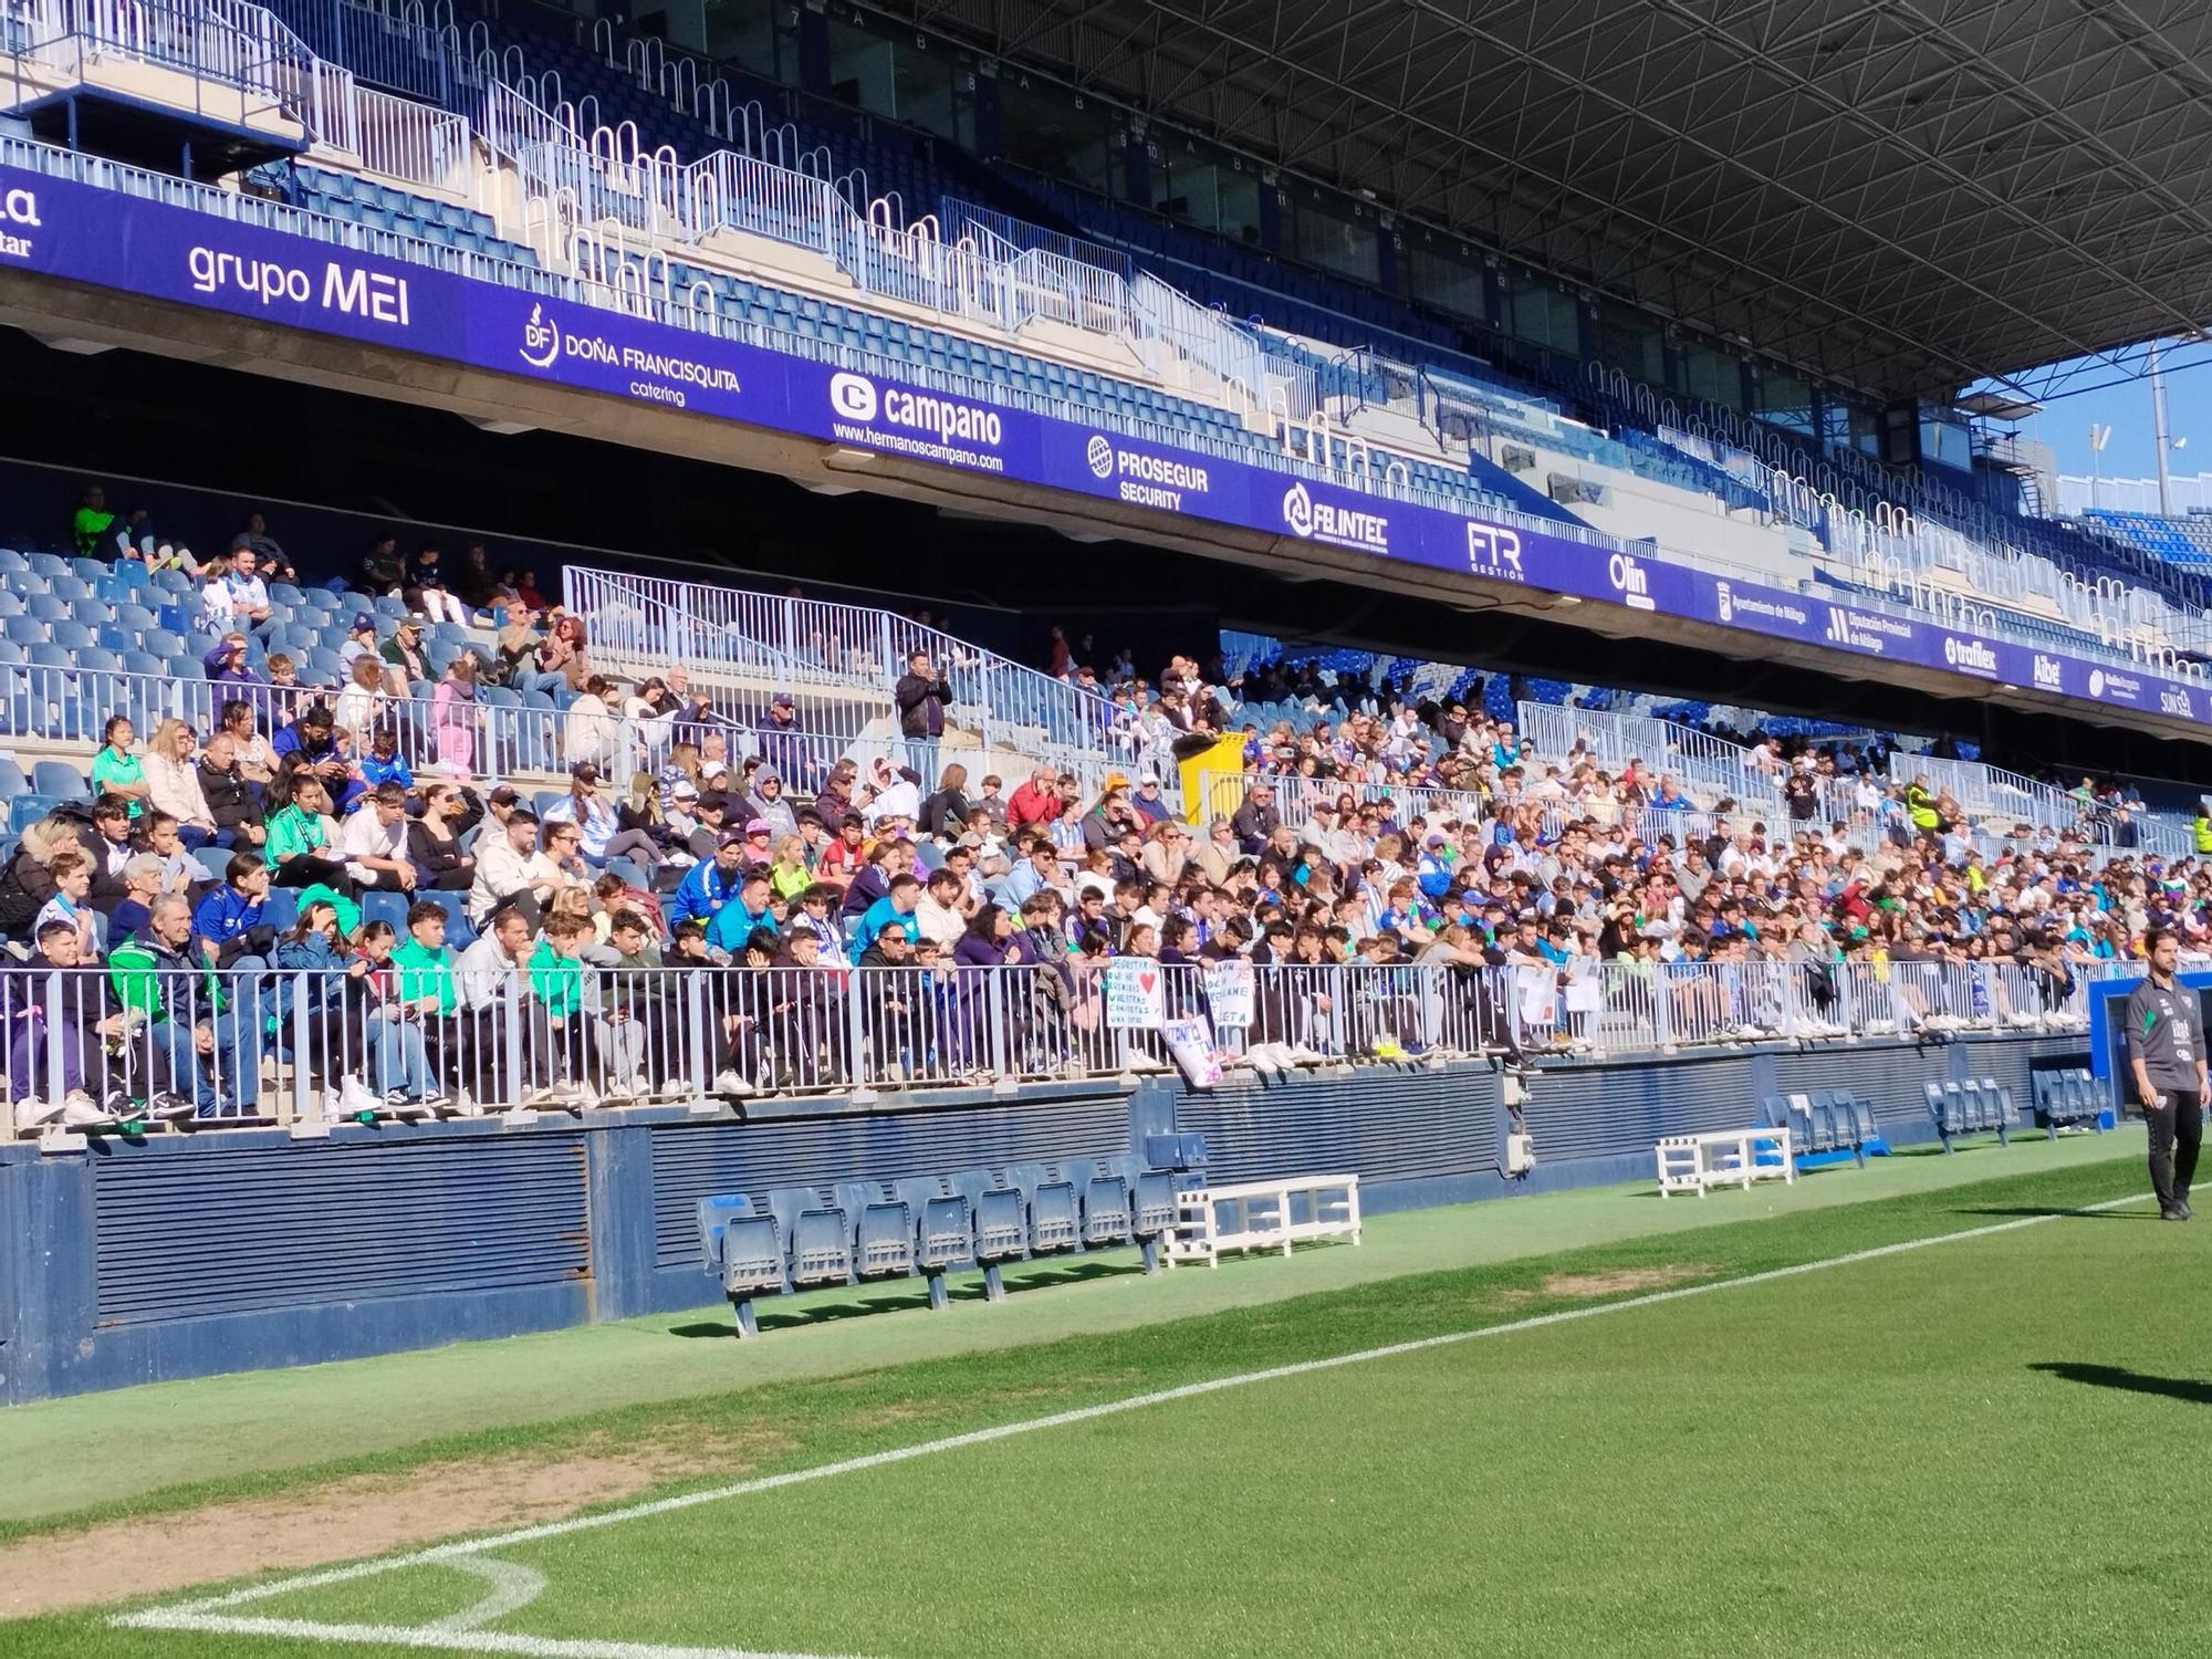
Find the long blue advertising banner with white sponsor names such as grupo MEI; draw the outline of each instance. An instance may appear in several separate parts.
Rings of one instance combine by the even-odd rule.
[[[2161,675],[1298,480],[9,166],[0,166],[4,265],[1316,546],[2212,723],[2203,688]]]

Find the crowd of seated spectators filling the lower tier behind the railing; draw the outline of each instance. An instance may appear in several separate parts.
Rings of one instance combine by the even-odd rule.
[[[192,560],[104,511],[86,498],[80,546]],[[1431,967],[1478,1046],[1520,1062],[1486,971],[1564,984],[1613,962],[1697,984],[1705,964],[1759,962],[1820,987],[1849,962],[2011,962],[2055,1006],[2148,927],[2212,942],[2212,865],[2099,860],[2051,827],[1984,854],[1955,801],[1887,783],[1865,748],[1761,739],[1772,799],[1699,803],[1668,772],[1542,754],[1480,703],[1387,684],[1336,719],[1239,721],[1256,697],[1318,701],[1281,666],[1228,686],[1219,661],[1172,657],[1148,684],[1124,655],[1106,697],[1126,765],[1086,792],[1057,765],[1006,787],[947,761],[953,692],[916,650],[889,688],[900,748],[832,759],[787,695],[732,719],[681,666],[615,684],[582,617],[480,555],[447,586],[434,549],[378,542],[363,577],[407,613],[354,617],[343,686],[303,686],[283,653],[250,664],[279,622],[270,573],[290,568],[259,518],[192,562],[223,628],[206,655],[217,717],[144,743],[108,721],[91,799],[31,825],[0,869],[0,929],[29,953],[0,984],[20,1126],[131,1102],[250,1113],[299,1029],[290,1057],[349,1108],[980,1075],[975,998],[1006,969],[1031,1064],[1093,1066],[1117,958],[1270,971],[1252,1046],[1305,1055],[1323,1031],[1391,1042],[1371,1009],[1349,1040],[1321,1018],[1314,971]],[[438,675],[434,622],[476,630]],[[1057,672],[1097,679],[1057,644]],[[562,706],[553,799],[478,776],[484,684]],[[420,776],[405,721],[429,726]],[[1243,739],[1245,779],[1190,823],[1164,779],[1186,739],[1223,737]],[[35,1015],[38,975],[66,967],[106,973]],[[305,1013],[299,984],[321,987]]]

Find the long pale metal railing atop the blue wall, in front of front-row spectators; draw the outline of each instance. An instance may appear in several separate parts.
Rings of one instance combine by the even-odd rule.
[[[1144,958],[929,967],[624,967],[591,936],[403,960],[336,938],[310,900],[279,938],[246,914],[223,967],[159,938],[106,967],[0,971],[22,1128],[115,1117],[330,1124],[754,1093],[1006,1086],[1166,1071],[1183,1031],[1232,1064],[2079,1029],[2084,973],[1980,962],[1597,962],[1504,969]],[[124,949],[113,949],[124,945]],[[737,942],[743,949],[743,942]],[[44,949],[44,947],[42,947]],[[69,949],[58,945],[58,951]],[[1141,989],[1135,980],[1141,975]],[[1177,1024],[1186,1022],[1186,1024]]]

